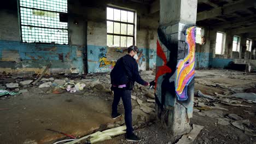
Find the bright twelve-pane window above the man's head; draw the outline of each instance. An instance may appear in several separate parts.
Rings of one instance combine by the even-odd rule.
[[[135,44],[135,12],[107,7],[107,46],[129,47]]]

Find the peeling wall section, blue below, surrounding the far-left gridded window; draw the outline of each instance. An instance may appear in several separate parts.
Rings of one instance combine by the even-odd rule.
[[[5,4],[8,6],[0,10],[0,19],[4,20],[0,21],[0,73],[42,73],[49,63],[47,73],[84,73],[86,22],[83,16],[68,17],[69,45],[21,43],[17,2],[10,0]]]

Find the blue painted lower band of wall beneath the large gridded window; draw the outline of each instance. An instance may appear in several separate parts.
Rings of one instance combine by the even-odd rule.
[[[31,44],[0,40],[0,67],[43,68],[51,63],[51,68],[70,69],[71,73],[83,73],[83,50],[84,47],[76,45]],[[11,52],[18,53],[19,58],[16,59],[20,61],[4,61],[6,57],[9,57],[8,55],[11,57]]]

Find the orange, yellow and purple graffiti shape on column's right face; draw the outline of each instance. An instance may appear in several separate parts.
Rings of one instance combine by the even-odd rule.
[[[187,100],[187,88],[195,75],[195,31],[196,27],[190,27],[186,31],[186,43],[188,55],[180,59],[176,69],[175,91],[178,100]]]

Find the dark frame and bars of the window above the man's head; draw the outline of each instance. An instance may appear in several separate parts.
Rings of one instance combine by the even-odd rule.
[[[115,21],[114,20],[114,13],[113,13],[113,20],[109,20],[109,19],[107,19],[107,8],[112,8],[112,9],[117,9],[117,10],[124,10],[124,11],[130,11],[130,12],[132,12],[133,13],[133,23],[131,23],[131,22],[123,22],[123,21]],[[121,19],[121,15],[120,15],[120,19]],[[128,17],[127,17],[127,19],[128,19]],[[136,28],[136,11],[134,11],[134,10],[128,10],[128,9],[124,9],[124,8],[118,8],[118,7],[113,7],[113,6],[109,6],[109,5],[107,5],[107,7],[106,7],[106,22],[108,22],[108,21],[110,21],[110,22],[113,22],[113,33],[108,33],[107,32],[107,36],[108,35],[113,35],[113,46],[111,46],[111,47],[121,47],[121,37],[126,37],[126,46],[127,47],[129,47],[128,45],[127,45],[127,37],[132,37],[133,38],[133,40],[132,40],[132,45],[135,45],[135,28]],[[114,33],[114,22],[117,22],[117,23],[120,23],[120,34],[115,34]],[[123,24],[126,24],[127,25],[127,27],[126,27],[126,34],[121,34],[121,23],[123,23]],[[133,34],[132,35],[128,35],[127,33],[128,33],[128,25],[133,25]],[[108,29],[107,29],[107,31],[108,31]],[[120,46],[114,46],[114,36],[120,36],[120,39],[119,39],[119,44],[120,44]],[[108,45],[107,45],[108,46]],[[127,48],[127,47],[121,47],[121,48]]]

